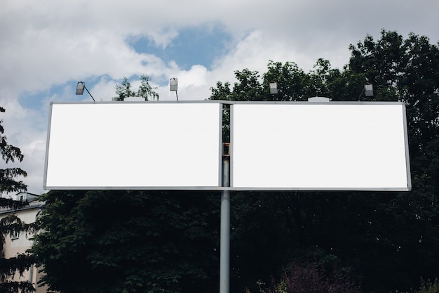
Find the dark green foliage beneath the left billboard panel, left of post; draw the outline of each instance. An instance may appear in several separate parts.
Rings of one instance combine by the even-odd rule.
[[[194,192],[50,191],[32,252],[51,290],[212,292],[217,196]]]

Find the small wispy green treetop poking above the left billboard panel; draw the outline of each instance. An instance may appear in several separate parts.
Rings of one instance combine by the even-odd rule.
[[[113,100],[123,100],[123,98],[128,97],[142,97],[145,100],[158,100],[158,93],[149,84],[149,77],[146,74],[140,76],[140,86],[137,91],[131,89],[131,83],[128,82],[126,77],[123,77],[121,84],[116,85],[117,96]]]

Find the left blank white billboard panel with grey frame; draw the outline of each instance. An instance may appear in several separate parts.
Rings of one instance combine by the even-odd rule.
[[[53,103],[46,189],[217,188],[219,103]]]

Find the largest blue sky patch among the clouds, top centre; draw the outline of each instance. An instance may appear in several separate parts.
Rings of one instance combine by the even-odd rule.
[[[162,48],[147,37],[128,41],[138,53],[154,54],[165,63],[172,60],[183,70],[189,70],[193,65],[203,65],[212,69],[215,59],[224,56],[229,50],[231,35],[220,27],[191,27],[180,30],[177,37]]]

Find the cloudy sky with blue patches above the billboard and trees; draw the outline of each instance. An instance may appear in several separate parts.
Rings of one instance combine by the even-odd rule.
[[[233,84],[235,70],[262,74],[269,60],[309,72],[324,58],[342,69],[350,44],[383,29],[438,44],[438,11],[437,0],[3,0],[0,119],[25,159],[1,168],[25,169],[27,191],[46,192],[50,103],[91,100],[75,95],[77,82],[109,101],[123,77],[137,89],[147,74],[160,100],[175,100],[175,77],[179,100],[204,100],[218,81]]]

